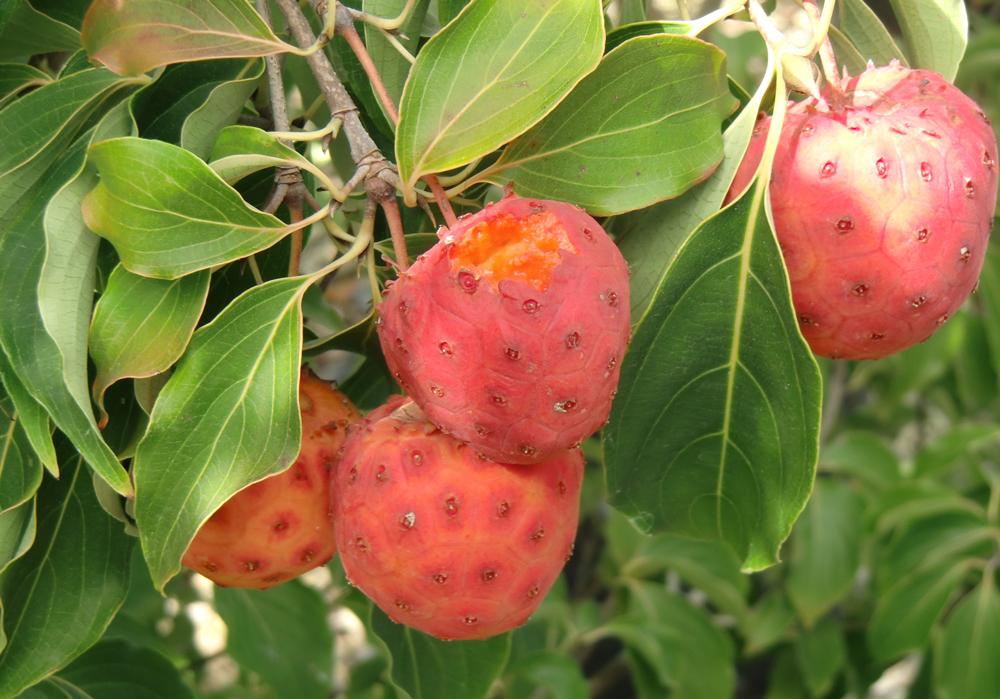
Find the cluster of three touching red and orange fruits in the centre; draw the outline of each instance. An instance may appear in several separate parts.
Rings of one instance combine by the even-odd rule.
[[[409,397],[348,427],[346,399],[304,375],[298,460],[209,519],[186,565],[266,587],[335,540],[352,584],[442,639],[502,633],[538,607],[573,548],[580,443],[618,384],[628,267],[561,202],[508,195],[439,237],[378,309]],[[274,489],[287,495],[265,502]]]

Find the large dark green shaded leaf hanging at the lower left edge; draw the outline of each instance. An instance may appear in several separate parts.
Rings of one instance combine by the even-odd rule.
[[[79,457],[38,494],[35,546],[3,576],[7,648],[0,696],[14,696],[101,637],[128,590],[132,539],[94,496]]]

